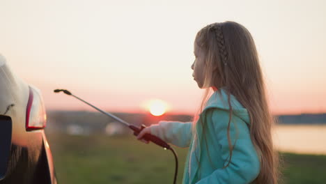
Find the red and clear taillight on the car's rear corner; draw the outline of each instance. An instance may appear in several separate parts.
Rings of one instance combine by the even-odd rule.
[[[39,130],[45,128],[47,114],[40,91],[29,86],[29,102],[26,109],[26,130]]]

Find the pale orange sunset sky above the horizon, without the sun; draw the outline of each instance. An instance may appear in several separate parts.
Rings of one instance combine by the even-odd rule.
[[[232,20],[254,37],[272,112],[326,112],[325,1],[0,2],[0,54],[42,91],[47,109],[137,112],[158,98],[192,114],[196,32]]]

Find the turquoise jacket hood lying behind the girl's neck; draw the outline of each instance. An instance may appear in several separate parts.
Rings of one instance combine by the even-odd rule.
[[[230,100],[233,114],[241,118],[245,123],[249,125],[250,118],[247,109],[244,108],[232,94],[230,95]],[[230,107],[228,105],[228,94],[226,93],[224,87],[219,88],[217,89],[217,91],[214,91],[214,93],[212,93],[212,95],[206,102],[203,112],[210,108],[218,108],[229,111]]]

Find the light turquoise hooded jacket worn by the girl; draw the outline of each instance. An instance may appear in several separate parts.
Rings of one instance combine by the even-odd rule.
[[[210,164],[208,158],[205,140],[202,140],[201,123],[196,123],[196,129],[199,140],[202,142],[197,141],[197,147],[194,151],[192,151],[194,144],[192,122],[160,121],[150,126],[151,133],[164,141],[181,148],[189,147],[183,173],[183,184],[251,183],[258,176],[260,162],[250,138],[249,114],[247,109],[244,109],[233,95],[231,95],[231,106],[234,114],[232,115],[230,136],[235,147],[231,162],[225,169],[222,167],[228,163],[229,155],[227,138],[229,108],[227,94],[223,88],[212,93],[200,116],[207,125],[206,139],[213,165]],[[195,153],[201,164],[200,169],[196,162]],[[190,160],[191,154],[192,159]],[[188,170],[189,163],[191,164],[190,173]]]

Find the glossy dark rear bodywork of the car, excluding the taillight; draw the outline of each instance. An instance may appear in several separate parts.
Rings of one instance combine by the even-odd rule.
[[[8,116],[12,121],[11,133],[0,134],[0,139],[11,140],[8,160],[0,162],[7,163],[6,166],[1,165],[1,168],[6,167],[6,171],[2,171],[6,174],[1,176],[0,183],[36,183],[38,178],[49,178],[46,183],[56,183],[52,154],[44,129],[26,131],[26,107],[30,89],[42,96],[35,86],[26,84],[17,77],[0,55],[0,115]],[[0,121],[0,128],[3,128],[3,122],[5,121]],[[0,151],[6,155],[8,144],[0,141]],[[42,174],[48,176],[36,176],[40,173],[39,167],[43,167],[45,171]]]

